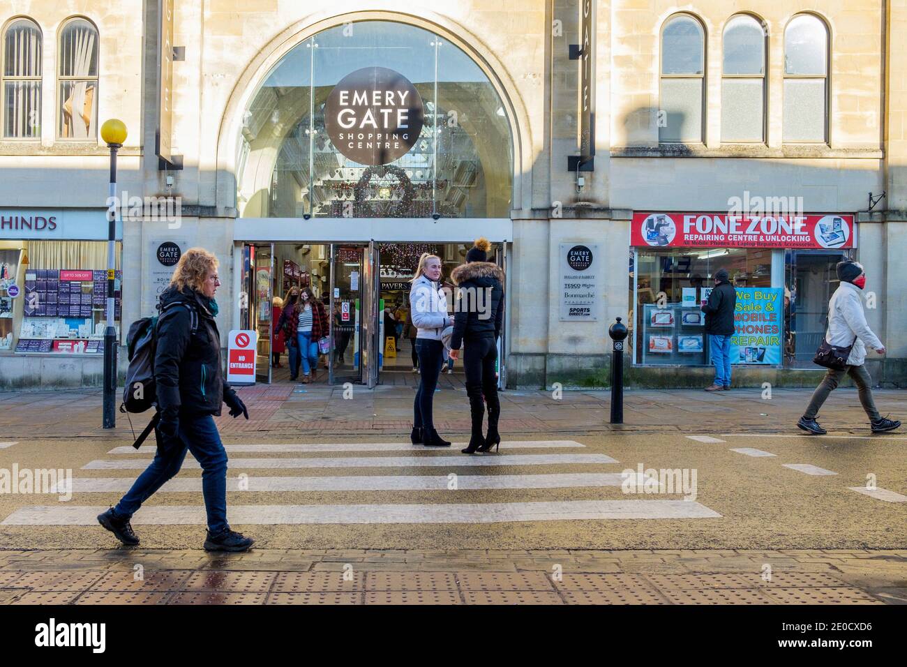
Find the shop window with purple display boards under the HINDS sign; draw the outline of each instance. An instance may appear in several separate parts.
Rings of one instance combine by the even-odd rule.
[[[120,338],[121,244],[114,327]],[[103,354],[107,243],[0,241],[0,354]]]

